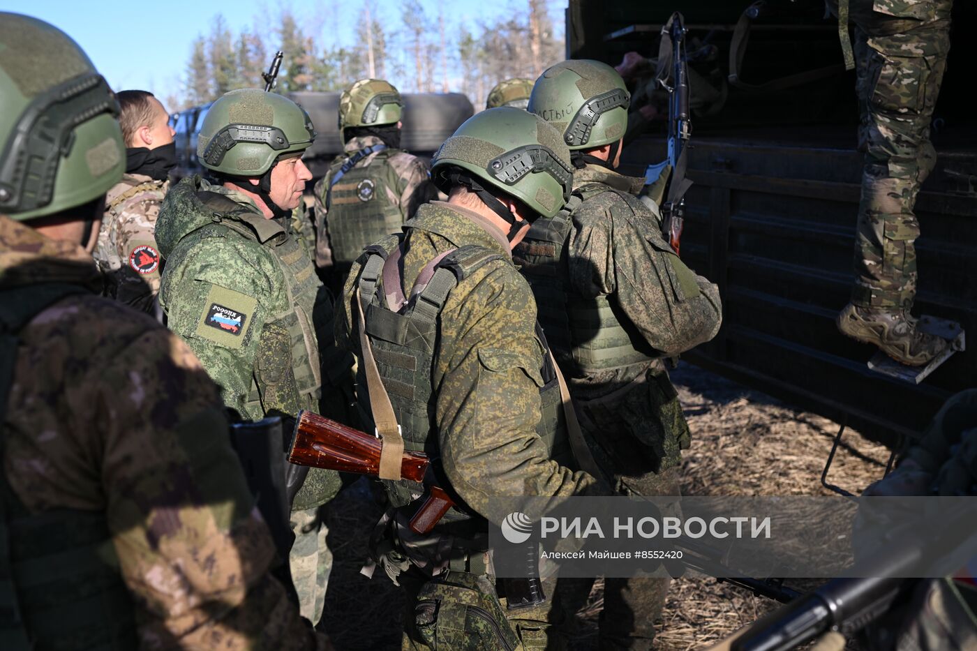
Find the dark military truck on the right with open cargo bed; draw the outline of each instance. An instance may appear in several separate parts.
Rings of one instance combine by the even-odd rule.
[[[867,366],[875,350],[833,319],[853,280],[862,155],[854,71],[823,0],[571,0],[568,56],[610,65],[658,54],[661,26],[684,13],[691,65],[720,107],[693,112],[683,259],[719,284],[723,326],[684,358],[863,433],[913,438],[953,393],[977,384],[977,351],[921,383]],[[914,313],[977,336],[977,118],[968,99],[973,3],[954,8],[953,47],[933,121],[939,153],[916,214]],[[710,46],[712,46],[710,48]],[[712,49],[713,55],[708,56]],[[730,81],[736,72],[735,84]],[[693,100],[695,103],[695,99]],[[664,122],[624,151],[625,173],[665,158]]]

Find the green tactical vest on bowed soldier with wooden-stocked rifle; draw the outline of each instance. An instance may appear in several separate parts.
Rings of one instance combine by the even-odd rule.
[[[401,295],[399,258],[404,236],[383,239],[366,248],[368,257],[360,277],[366,336],[369,338],[377,369],[387,390],[404,436],[404,450],[423,452],[438,459],[438,433],[434,430],[434,356],[438,345],[438,318],[447,296],[459,283],[492,260],[498,253],[476,245],[462,246],[428,263],[418,276],[409,298]],[[383,294],[377,291],[382,279]],[[386,294],[386,295],[384,295]],[[538,329],[540,341],[546,345]],[[358,369],[361,389],[367,386],[364,365]],[[539,389],[542,415],[536,433],[545,442],[550,458],[561,465],[575,467],[573,451],[562,410],[556,372],[545,356]],[[361,390],[359,405],[363,422],[372,423],[369,396]],[[437,464],[437,463],[436,463]],[[424,487],[407,480],[384,481],[396,507],[404,506],[424,493]],[[452,508],[445,523],[470,519],[471,515]]]

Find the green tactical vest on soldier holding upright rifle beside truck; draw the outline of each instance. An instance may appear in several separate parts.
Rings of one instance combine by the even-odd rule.
[[[564,369],[573,369],[574,377],[655,359],[651,347],[607,295],[583,297],[567,284],[567,240],[573,211],[582,201],[603,192],[616,193],[632,211],[641,209],[632,195],[603,184],[586,185],[573,191],[571,201],[556,217],[533,222],[526,238],[513,250],[516,264],[532,287],[539,324],[558,362]]]

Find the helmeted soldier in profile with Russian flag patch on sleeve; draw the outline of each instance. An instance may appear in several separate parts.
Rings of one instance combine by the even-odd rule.
[[[213,175],[185,178],[163,201],[156,241],[166,258],[159,302],[247,419],[302,409],[347,420],[352,359],[332,343],[332,296],[292,230],[312,178],[302,153],[316,131],[308,113],[274,93],[236,90],[207,112],[197,155]],[[325,534],[319,506],[337,473],[314,469],[292,502],[290,564],[302,614],[321,614]]]

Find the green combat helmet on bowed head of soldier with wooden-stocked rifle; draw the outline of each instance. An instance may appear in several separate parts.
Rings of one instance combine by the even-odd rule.
[[[542,217],[553,217],[570,198],[573,166],[560,133],[522,109],[488,109],[468,118],[431,159],[431,178],[444,192],[463,185],[512,224],[525,222],[488,193],[511,195]]]

